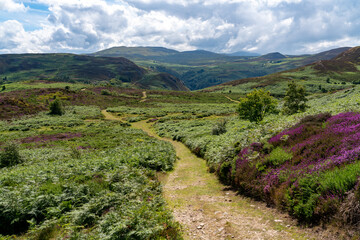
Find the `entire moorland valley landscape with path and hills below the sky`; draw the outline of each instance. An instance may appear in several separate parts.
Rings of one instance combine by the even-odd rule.
[[[155,65],[230,57],[0,55],[0,239],[358,239],[359,49],[197,91]],[[275,111],[240,118],[259,89]]]

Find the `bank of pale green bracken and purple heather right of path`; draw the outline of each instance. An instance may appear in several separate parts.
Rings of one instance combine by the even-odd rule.
[[[259,124],[229,116],[220,135],[212,128],[221,118],[170,119],[155,128],[205,158],[240,193],[316,224],[342,218],[348,195],[358,191],[358,101],[353,88],[312,96],[306,112],[270,115]]]

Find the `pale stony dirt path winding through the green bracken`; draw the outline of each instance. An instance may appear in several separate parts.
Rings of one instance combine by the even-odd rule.
[[[207,171],[203,159],[184,144],[159,137],[146,121],[132,126],[170,142],[176,149],[179,160],[161,182],[175,219],[184,227],[185,239],[330,239],[301,229],[286,214],[226,189]]]

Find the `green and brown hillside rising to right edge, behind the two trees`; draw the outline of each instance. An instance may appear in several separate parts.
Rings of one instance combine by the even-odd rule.
[[[343,49],[322,53],[329,57]],[[317,58],[316,56],[314,56]],[[313,59],[315,59],[313,58]],[[304,67],[256,78],[238,79],[218,86],[204,89],[209,92],[247,93],[254,88],[263,87],[276,96],[285,94],[288,81],[296,81],[306,87],[308,93],[333,92],[352,87],[360,81],[360,47],[347,49],[331,60],[319,60]]]

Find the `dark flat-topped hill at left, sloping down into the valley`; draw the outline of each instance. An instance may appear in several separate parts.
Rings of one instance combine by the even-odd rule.
[[[188,90],[181,80],[169,75],[146,70],[122,57],[75,54],[0,55],[0,84],[48,80],[145,89]]]

